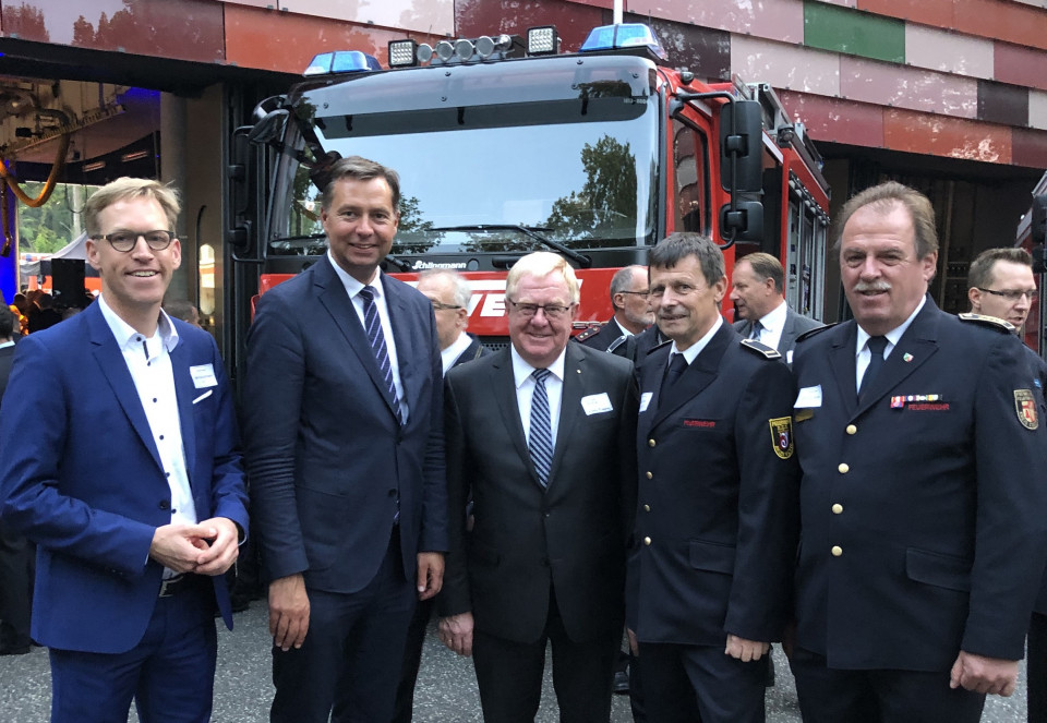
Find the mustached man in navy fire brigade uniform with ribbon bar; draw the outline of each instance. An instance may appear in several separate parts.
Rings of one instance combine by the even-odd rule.
[[[927,294],[926,196],[882,183],[838,222],[854,320],[801,339],[793,364],[801,710],[973,723],[1014,690],[1047,558],[1043,409],[1009,324]]]

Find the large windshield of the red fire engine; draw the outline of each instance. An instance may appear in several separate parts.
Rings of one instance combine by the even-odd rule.
[[[320,190],[309,171],[332,152],[400,174],[395,255],[531,251],[542,248],[538,237],[571,249],[651,242],[653,67],[639,58],[564,60],[397,71],[304,93],[294,145],[305,160],[287,161],[294,178],[277,207],[289,212],[274,227],[269,254],[323,252]]]

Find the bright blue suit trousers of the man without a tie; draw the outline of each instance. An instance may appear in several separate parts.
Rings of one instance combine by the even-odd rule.
[[[127,721],[134,699],[143,723],[206,723],[218,637],[209,578],[160,598],[141,642],[125,653],[50,649],[51,722]]]

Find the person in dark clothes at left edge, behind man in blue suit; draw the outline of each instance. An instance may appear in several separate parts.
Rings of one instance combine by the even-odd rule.
[[[0,300],[0,398],[11,375],[17,324],[17,316]],[[4,529],[3,520],[0,520],[0,655],[29,652],[33,642],[29,637],[32,566],[33,553],[26,539]]]

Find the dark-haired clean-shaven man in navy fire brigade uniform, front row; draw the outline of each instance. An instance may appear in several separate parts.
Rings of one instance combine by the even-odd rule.
[[[659,723],[761,722],[789,618],[797,483],[789,369],[720,315],[723,254],[673,233],[649,256],[658,325],[640,362],[628,622]]]

